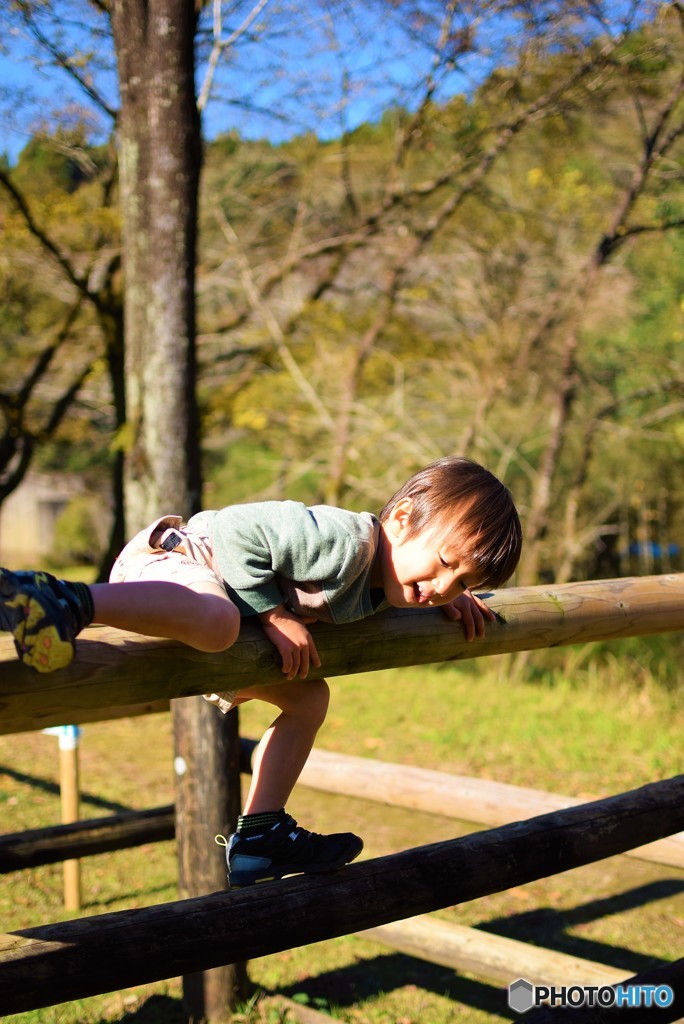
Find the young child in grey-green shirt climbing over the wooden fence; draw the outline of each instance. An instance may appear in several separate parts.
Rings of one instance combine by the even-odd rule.
[[[186,525],[157,520],[124,548],[109,584],[0,569],[0,628],[25,665],[51,672],[71,662],[74,638],[93,621],[220,651],[243,615],[258,615],[285,681],[207,694],[223,712],[251,699],[280,712],[226,844],[229,884],[246,886],[334,870],[364,846],[352,833],[308,833],[285,810],[328,711],[308,624],[438,606],[468,640],[482,637],[495,615],[472,590],[512,575],[521,538],[504,484],[470,460],[444,458],[412,476],[378,517],[290,501],[233,505]]]

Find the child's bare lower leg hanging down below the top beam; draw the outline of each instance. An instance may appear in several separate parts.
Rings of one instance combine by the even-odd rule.
[[[325,679],[293,680],[240,691],[243,699],[265,700],[281,709],[254,755],[245,814],[285,807],[325,721],[330,690]]]

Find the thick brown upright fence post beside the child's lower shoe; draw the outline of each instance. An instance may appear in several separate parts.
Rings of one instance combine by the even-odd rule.
[[[213,838],[232,831],[240,813],[239,720],[237,710],[222,715],[203,697],[173,700],[171,708],[178,892],[188,899],[226,888],[224,850]],[[245,964],[185,975],[188,1024],[229,1021],[246,989]]]

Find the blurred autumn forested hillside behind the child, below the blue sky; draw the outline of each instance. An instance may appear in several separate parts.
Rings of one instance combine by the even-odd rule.
[[[377,509],[465,453],[515,494],[519,583],[684,567],[682,16],[336,139],[207,143],[206,506]],[[101,507],[126,449],[115,150],[36,136],[0,182],[0,500],[32,464]]]

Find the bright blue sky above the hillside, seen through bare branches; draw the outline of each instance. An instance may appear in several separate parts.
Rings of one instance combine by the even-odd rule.
[[[255,2],[239,0],[230,5],[236,26]],[[649,3],[638,0],[641,17]],[[533,9],[542,17],[558,5],[566,10],[571,6],[563,5],[561,0],[540,0]],[[416,9],[418,6],[414,5]],[[422,7],[441,16],[445,4],[443,0],[422,0]],[[440,71],[438,99],[472,90],[494,66],[506,60],[507,45],[518,31],[518,23],[501,14],[490,20],[483,18],[478,23],[476,46],[458,52],[458,34],[473,25],[465,7],[459,8],[461,13],[453,25],[456,59]],[[630,0],[604,0],[604,7],[613,16],[634,9]],[[54,16],[42,28],[58,39],[67,53],[74,54],[79,46],[90,46],[92,37],[88,38],[88,33],[95,33],[96,42],[91,48],[102,58],[95,81],[108,102],[116,108],[116,75],[105,19],[83,0],[53,0],[43,9]],[[438,38],[438,18],[412,24],[403,13],[405,6],[374,0],[362,4],[338,0],[334,18],[332,9],[329,2],[318,4],[316,0],[304,6],[297,0],[268,0],[262,24],[254,23],[255,28],[268,30],[264,31],[266,41],[250,45],[243,38],[230,59],[220,66],[205,113],[207,137],[230,130],[243,137],[267,137],[274,142],[307,130],[331,137],[339,135],[344,127],[377,120],[391,102],[409,109],[415,105],[415,83],[424,81],[431,66],[434,50],[430,44]],[[302,10],[307,11],[305,25]],[[210,14],[211,8],[207,11]],[[90,18],[88,33],[80,24],[86,16]],[[210,28],[208,22],[205,29]],[[231,28],[226,25],[225,32]],[[202,58],[208,52],[206,45],[199,51],[198,90],[204,80],[206,65]],[[63,71],[45,61],[38,67],[37,52],[17,28],[11,9],[0,2],[0,152],[12,162],[38,128],[50,130],[57,119],[75,119],[85,110],[83,91]],[[349,93],[343,101],[345,76]],[[94,140],[110,133],[111,119],[97,113],[92,104],[88,117]]]

